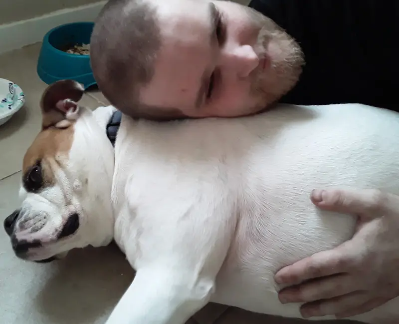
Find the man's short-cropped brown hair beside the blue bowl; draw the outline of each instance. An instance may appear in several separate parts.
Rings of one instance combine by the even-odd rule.
[[[98,15],[90,41],[90,60],[99,89],[132,117],[173,119],[179,109],[139,102],[140,87],[154,75],[161,31],[156,7],[148,0],[109,0]]]

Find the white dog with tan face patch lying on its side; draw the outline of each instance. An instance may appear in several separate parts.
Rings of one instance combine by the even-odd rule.
[[[278,301],[283,266],[331,249],[356,218],[329,215],[314,188],[399,194],[399,114],[359,104],[290,106],[252,117],[156,123],[43,94],[23,160],[22,205],[4,222],[15,254],[39,261],[115,239],[137,275],[107,324],[183,324],[209,301],[300,317]],[[325,320],[331,317],[323,318]],[[399,299],[353,318],[399,322]]]

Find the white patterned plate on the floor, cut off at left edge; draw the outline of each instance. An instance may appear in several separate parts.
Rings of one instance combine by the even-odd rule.
[[[24,103],[22,89],[14,82],[0,78],[0,125],[8,121]]]

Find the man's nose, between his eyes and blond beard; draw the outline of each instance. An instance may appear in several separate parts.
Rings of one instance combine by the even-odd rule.
[[[250,45],[226,50],[223,56],[226,73],[234,73],[238,78],[247,77],[259,65],[259,57]]]

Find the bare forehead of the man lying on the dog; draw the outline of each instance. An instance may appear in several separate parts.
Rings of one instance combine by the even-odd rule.
[[[159,2],[162,46],[153,79],[141,89],[140,99],[148,105],[191,107],[212,54],[213,6],[206,0]]]

